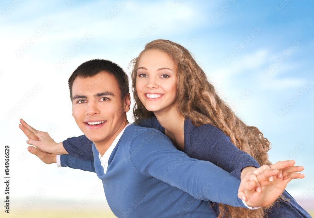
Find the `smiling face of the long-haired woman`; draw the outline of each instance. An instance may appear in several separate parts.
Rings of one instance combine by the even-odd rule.
[[[176,108],[177,65],[159,50],[145,51],[138,60],[136,91],[148,111],[169,112]]]

